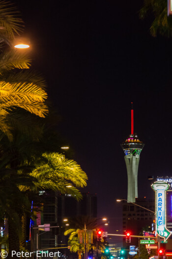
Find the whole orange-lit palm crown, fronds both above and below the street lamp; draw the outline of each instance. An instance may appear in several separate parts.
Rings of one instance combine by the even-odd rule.
[[[27,71],[31,63],[27,52],[4,48],[4,43],[11,46],[23,28],[20,12],[14,4],[0,0],[0,130],[10,140],[17,117],[10,116],[11,111],[17,109],[18,114],[18,109],[25,109],[39,117],[48,113],[45,81],[39,74]]]

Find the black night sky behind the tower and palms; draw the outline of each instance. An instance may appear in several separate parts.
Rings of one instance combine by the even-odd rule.
[[[114,232],[115,199],[127,198],[120,143],[131,132],[131,102],[134,132],[145,143],[139,197],[153,197],[148,175],[172,175],[172,39],[149,34],[151,15],[139,19],[143,1],[15,2],[32,44],[32,67],[44,75],[61,116],[57,130],[88,175],[84,192],[97,194],[98,216],[109,217]]]

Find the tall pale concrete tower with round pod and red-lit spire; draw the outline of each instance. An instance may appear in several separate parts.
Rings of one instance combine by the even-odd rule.
[[[134,133],[133,103],[131,108],[131,134],[124,142],[122,142],[121,147],[125,153],[124,159],[127,167],[127,200],[135,202],[136,198],[138,198],[138,167],[140,154],[144,147],[144,144],[142,141],[139,140],[137,134]]]

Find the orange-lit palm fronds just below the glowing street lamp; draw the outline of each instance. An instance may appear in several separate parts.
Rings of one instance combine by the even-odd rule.
[[[26,53],[10,50],[0,55],[0,130],[10,140],[10,122],[17,108],[39,117],[48,113],[45,81],[39,74],[26,70],[29,66],[30,58]]]

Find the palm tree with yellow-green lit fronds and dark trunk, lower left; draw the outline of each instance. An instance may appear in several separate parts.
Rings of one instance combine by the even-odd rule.
[[[2,217],[5,215],[9,222],[9,251],[19,250],[19,239],[22,246],[26,244],[26,219],[31,216],[30,195],[31,200],[36,200],[39,190],[53,190],[81,199],[78,188],[85,187],[87,180],[77,162],[56,152],[43,153],[45,146],[41,147],[40,142],[32,141],[17,131],[13,131],[13,135],[13,141],[0,137],[0,168],[3,172],[0,173],[0,183],[4,186],[0,189],[0,207]],[[13,227],[16,224],[18,232]]]

